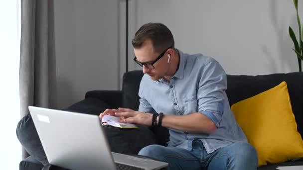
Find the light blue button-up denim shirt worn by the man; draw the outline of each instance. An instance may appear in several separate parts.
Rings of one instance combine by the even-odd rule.
[[[168,146],[192,150],[192,141],[201,140],[207,153],[212,153],[232,143],[247,142],[230,109],[225,93],[226,74],[221,65],[202,54],[189,55],[177,51],[179,68],[169,81],[153,81],[149,75],[143,76],[139,89],[139,111],[162,112],[164,115],[200,112],[217,126],[212,134],[169,129]]]

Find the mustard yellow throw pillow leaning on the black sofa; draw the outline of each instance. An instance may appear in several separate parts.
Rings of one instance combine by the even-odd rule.
[[[233,104],[231,110],[257,150],[259,167],[303,157],[286,82]]]

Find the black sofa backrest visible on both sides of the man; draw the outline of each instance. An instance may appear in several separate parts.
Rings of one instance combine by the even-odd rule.
[[[138,110],[142,71],[131,71],[123,77],[123,106]],[[298,131],[303,136],[303,72],[259,76],[227,75],[227,96],[230,105],[268,90],[281,82],[287,83]]]

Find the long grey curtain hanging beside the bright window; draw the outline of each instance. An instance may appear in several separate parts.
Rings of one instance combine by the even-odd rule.
[[[20,113],[28,106],[56,108],[54,1],[21,0]],[[22,150],[22,157],[28,155]]]

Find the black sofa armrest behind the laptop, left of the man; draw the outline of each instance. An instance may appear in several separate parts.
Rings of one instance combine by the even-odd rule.
[[[98,98],[113,108],[123,107],[122,90],[92,90],[86,92],[85,98]]]

